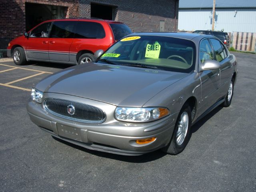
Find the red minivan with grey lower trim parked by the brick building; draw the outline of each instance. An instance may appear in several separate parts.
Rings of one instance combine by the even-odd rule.
[[[105,51],[130,33],[127,25],[110,20],[48,20],[12,40],[7,56],[16,65],[32,60],[83,64],[94,60],[96,50]]]

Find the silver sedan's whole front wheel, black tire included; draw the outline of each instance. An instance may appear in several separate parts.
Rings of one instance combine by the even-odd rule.
[[[185,124],[182,123],[184,121]],[[172,134],[170,143],[166,147],[162,148],[162,151],[171,155],[177,155],[182,152],[190,139],[190,129],[191,108],[188,104],[184,104],[176,120],[175,129]],[[178,136],[177,133],[180,133],[180,136]]]

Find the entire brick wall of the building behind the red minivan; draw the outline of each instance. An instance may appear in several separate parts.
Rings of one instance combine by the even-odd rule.
[[[159,31],[161,20],[165,21],[164,31],[178,29],[178,0],[1,0],[0,49],[25,32],[26,2],[64,6],[66,18],[90,18],[91,2],[106,4],[114,7],[114,20],[124,22],[133,32]]]

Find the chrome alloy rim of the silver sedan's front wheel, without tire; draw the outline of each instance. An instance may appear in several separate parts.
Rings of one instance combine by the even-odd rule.
[[[188,113],[184,111],[180,116],[180,121],[178,123],[178,130],[176,134],[176,142],[178,145],[181,145],[185,140],[185,137],[188,132],[188,121],[189,121]]]

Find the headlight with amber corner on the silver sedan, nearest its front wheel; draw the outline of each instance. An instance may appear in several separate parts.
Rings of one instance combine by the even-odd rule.
[[[127,122],[150,122],[158,120],[169,115],[167,108],[135,108],[135,107],[117,107],[115,110],[115,118],[120,121]]]

